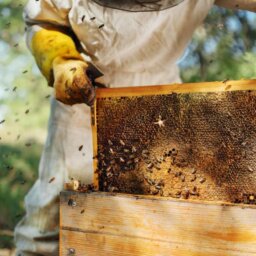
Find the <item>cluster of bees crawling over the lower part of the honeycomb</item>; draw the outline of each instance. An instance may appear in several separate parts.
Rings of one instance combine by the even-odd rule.
[[[128,144],[124,139],[108,139],[104,147],[99,146],[98,155],[94,158],[98,159],[96,173],[100,176],[100,191],[127,192],[123,191],[123,184],[119,185],[119,178],[134,170],[142,173],[142,176],[136,177],[138,181],[136,185],[145,188],[142,194],[193,199],[200,196],[201,186],[205,184],[208,186],[207,178],[202,173],[198,173],[196,168],[188,168],[184,162],[177,161],[179,150],[176,148],[167,150],[160,157],[155,157],[148,149]],[[172,175],[169,177],[177,180],[177,183],[184,184],[179,189],[173,190],[173,193],[165,192],[166,176],[161,178],[162,164],[166,165],[166,162],[171,164],[167,170],[167,173]],[[172,165],[180,166],[180,171]],[[141,166],[145,166],[144,169]],[[158,178],[153,175],[155,173],[159,173]],[[130,190],[128,187],[126,189]],[[256,195],[243,195],[242,199],[234,203],[256,204]]]

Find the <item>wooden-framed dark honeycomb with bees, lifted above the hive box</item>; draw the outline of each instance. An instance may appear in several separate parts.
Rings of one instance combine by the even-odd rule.
[[[256,80],[100,89],[95,104],[100,191],[256,204]]]

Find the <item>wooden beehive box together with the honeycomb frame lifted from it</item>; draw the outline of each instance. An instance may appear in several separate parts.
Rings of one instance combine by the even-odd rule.
[[[63,192],[60,255],[256,255],[256,81],[100,89],[95,186]]]

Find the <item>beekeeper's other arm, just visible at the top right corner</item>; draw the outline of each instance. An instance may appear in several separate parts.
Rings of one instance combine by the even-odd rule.
[[[216,5],[231,9],[256,12],[256,0],[216,0]]]

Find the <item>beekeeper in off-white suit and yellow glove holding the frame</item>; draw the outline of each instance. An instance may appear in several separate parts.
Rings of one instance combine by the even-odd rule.
[[[58,255],[63,184],[92,182],[89,63],[107,87],[179,83],[177,60],[213,4],[256,10],[256,0],[28,1],[27,43],[54,97],[39,178],[15,229],[17,255]]]

